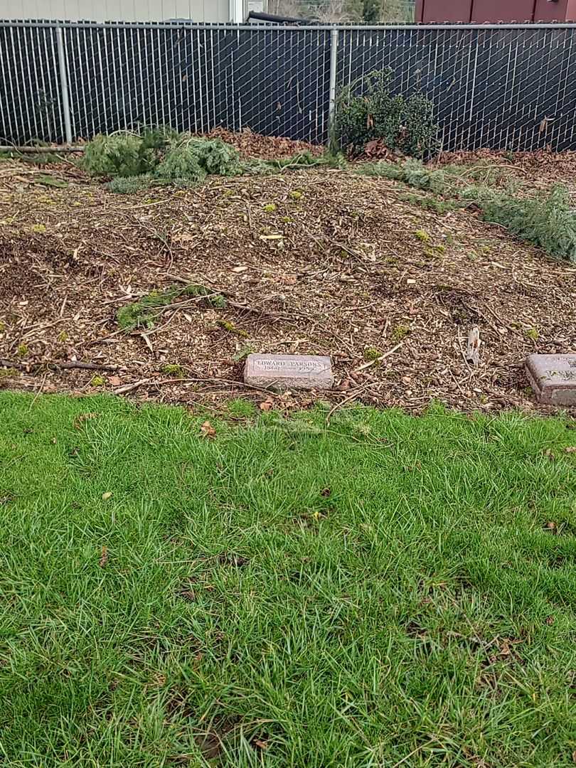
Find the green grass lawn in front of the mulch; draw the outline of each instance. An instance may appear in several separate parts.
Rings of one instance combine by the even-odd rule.
[[[574,423],[247,414],[0,394],[0,765],[574,765]]]

